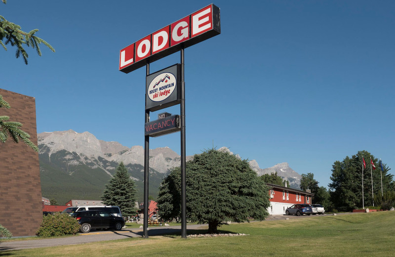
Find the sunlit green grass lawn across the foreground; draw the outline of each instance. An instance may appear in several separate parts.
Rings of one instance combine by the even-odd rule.
[[[358,257],[394,256],[395,252],[395,212],[230,224],[221,231],[249,235],[188,239],[164,235],[1,254],[10,257]]]

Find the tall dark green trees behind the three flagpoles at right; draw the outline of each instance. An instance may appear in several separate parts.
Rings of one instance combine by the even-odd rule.
[[[358,151],[351,158],[346,156],[342,162],[336,161],[332,166],[332,176],[330,177],[332,183],[329,184],[329,188],[332,190],[330,200],[334,208],[339,211],[362,208],[362,156],[366,162],[366,169],[363,170],[364,205],[373,205],[370,158],[377,167],[372,171],[373,192],[374,195],[381,195],[379,160],[367,151]],[[388,174],[391,169],[384,163],[383,170],[383,191],[388,191],[394,175]]]

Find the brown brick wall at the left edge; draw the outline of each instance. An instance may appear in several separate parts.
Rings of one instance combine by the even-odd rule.
[[[0,115],[23,124],[37,145],[36,99],[0,88],[3,99],[11,105]],[[0,142],[0,224],[13,236],[33,236],[42,220],[39,154],[22,140],[11,137]]]

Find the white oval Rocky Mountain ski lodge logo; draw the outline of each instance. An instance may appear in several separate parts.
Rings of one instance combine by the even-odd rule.
[[[148,86],[148,97],[155,102],[163,101],[171,95],[176,88],[176,84],[176,77],[172,73],[161,73]]]

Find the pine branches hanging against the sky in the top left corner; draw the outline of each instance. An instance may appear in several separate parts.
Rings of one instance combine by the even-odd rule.
[[[1,1],[3,3],[7,2],[6,0]],[[38,31],[38,29],[34,29],[30,32],[24,32],[21,30],[21,26],[7,21],[3,16],[0,15],[0,45],[4,48],[4,50],[7,50],[7,47],[5,46],[6,44],[16,46],[16,58],[19,58],[22,55],[26,65],[28,64],[29,55],[23,48],[23,45],[27,45],[28,47],[36,49],[40,56],[40,43],[45,44],[49,49],[51,49],[52,52],[55,52],[55,49],[49,43],[36,36],[36,32]]]

